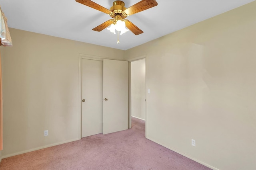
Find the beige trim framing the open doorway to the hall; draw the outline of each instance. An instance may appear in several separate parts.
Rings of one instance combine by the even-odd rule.
[[[142,60],[142,59],[145,59],[145,99],[146,99],[146,102],[145,102],[145,137],[148,136],[148,125],[147,125],[147,117],[148,117],[148,112],[147,112],[147,103],[148,103],[148,93],[147,93],[147,89],[148,89],[148,86],[147,86],[147,55],[142,55],[142,56],[139,56],[139,57],[134,57],[134,58],[130,58],[130,59],[126,59],[126,61],[128,61],[128,93],[129,93],[129,100],[128,100],[128,125],[129,125],[129,129],[132,128],[132,90],[131,90],[131,63],[133,61],[138,61],[138,60]]]

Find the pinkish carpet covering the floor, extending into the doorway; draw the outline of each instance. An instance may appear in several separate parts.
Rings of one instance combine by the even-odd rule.
[[[145,121],[132,128],[2,159],[0,170],[210,170],[145,138]]]

